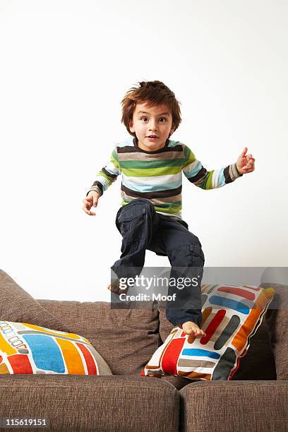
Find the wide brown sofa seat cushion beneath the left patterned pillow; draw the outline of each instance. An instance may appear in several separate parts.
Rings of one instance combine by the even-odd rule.
[[[179,430],[179,392],[164,380],[77,375],[0,379],[0,418],[47,419],[49,431]]]

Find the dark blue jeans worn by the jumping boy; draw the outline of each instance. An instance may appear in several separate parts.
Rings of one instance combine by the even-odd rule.
[[[169,284],[168,295],[176,294],[176,302],[167,301],[166,317],[173,325],[193,321],[200,326],[201,290],[204,255],[198,237],[188,231],[184,220],[174,220],[160,215],[149,200],[137,198],[119,208],[116,215],[116,227],[121,233],[121,256],[112,270],[117,277],[135,277],[140,275],[145,263],[145,251],[167,256],[171,265],[170,280],[173,277],[186,277],[198,280],[183,289]],[[127,268],[130,272],[127,274]],[[134,269],[134,270],[133,270]],[[195,286],[196,285],[196,286]],[[188,308],[185,308],[188,304]],[[191,304],[193,307],[191,308]]]

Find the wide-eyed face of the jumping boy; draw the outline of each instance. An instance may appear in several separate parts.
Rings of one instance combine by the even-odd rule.
[[[155,151],[163,148],[172,128],[172,113],[167,105],[149,107],[148,103],[137,104],[133,112],[133,121],[130,131],[135,132],[138,138],[138,146],[142,150]],[[149,138],[155,135],[156,138]]]

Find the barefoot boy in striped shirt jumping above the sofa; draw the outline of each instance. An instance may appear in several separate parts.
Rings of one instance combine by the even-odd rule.
[[[115,146],[110,162],[97,173],[83,199],[83,210],[94,216],[90,208],[122,174],[116,227],[123,239],[121,257],[112,270],[118,279],[140,275],[148,249],[168,256],[170,278],[184,275],[192,280],[197,275],[197,287],[191,284],[180,290],[169,284],[168,294],[176,294],[178,308],[167,303],[166,316],[187,335],[203,337],[200,281],[205,258],[198,237],[181,218],[181,172],[200,188],[219,188],[252,172],[255,159],[244,148],[236,163],[208,172],[187,145],[169,139],[181,123],[181,112],[174,92],[158,80],[140,82],[138,88],[128,90],[121,104],[121,122],[132,137]],[[121,293],[115,282],[108,288]],[[194,306],[184,308],[191,298]]]

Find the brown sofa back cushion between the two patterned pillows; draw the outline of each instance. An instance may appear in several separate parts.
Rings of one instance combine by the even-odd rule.
[[[139,375],[160,344],[152,301],[137,309],[112,309],[104,301],[38,301],[71,332],[86,337],[115,375]]]

